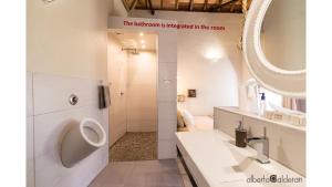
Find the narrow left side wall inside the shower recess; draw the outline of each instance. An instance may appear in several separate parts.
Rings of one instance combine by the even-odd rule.
[[[111,93],[110,108],[110,146],[127,131],[126,93],[127,93],[127,61],[126,51],[122,51],[120,41],[108,33],[108,85]],[[125,95],[121,95],[121,92]]]

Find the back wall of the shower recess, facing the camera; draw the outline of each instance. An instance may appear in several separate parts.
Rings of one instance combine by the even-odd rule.
[[[155,51],[128,54],[127,131],[156,132],[157,59]]]

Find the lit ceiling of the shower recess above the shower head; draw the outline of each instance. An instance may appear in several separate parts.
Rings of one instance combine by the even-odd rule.
[[[157,39],[154,33],[114,30],[112,34],[121,42],[124,49],[156,50]]]

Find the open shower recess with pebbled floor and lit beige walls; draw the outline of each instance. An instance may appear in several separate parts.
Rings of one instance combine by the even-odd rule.
[[[110,162],[157,159],[155,33],[108,32]]]

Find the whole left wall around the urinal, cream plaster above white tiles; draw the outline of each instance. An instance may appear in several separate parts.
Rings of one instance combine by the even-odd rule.
[[[87,186],[107,164],[107,146],[71,169],[62,166],[58,149],[70,121],[91,116],[107,131],[107,110],[95,103],[96,80],[107,77],[107,0],[27,1],[27,69],[33,80],[27,170],[35,176],[29,187]],[[75,107],[68,106],[71,93],[81,98]]]

